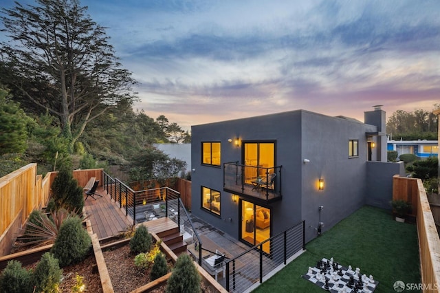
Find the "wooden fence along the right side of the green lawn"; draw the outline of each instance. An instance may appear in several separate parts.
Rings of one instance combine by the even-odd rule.
[[[440,292],[440,239],[423,183],[420,179],[395,175],[393,199],[411,202],[413,214],[417,217],[423,292]]]

